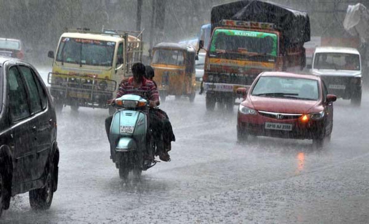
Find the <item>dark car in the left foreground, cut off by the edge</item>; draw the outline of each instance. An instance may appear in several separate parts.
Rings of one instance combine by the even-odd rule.
[[[0,57],[0,102],[0,214],[27,191],[32,208],[47,209],[59,163],[51,96],[32,65]]]

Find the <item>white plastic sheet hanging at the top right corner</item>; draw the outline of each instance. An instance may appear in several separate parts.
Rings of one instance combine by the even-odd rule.
[[[359,35],[362,42],[369,39],[369,11],[366,7],[358,3],[356,5],[349,5],[344,20],[345,30],[353,35]]]

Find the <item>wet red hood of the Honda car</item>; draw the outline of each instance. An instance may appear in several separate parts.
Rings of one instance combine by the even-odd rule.
[[[298,100],[271,98],[261,96],[250,96],[250,101],[257,111],[268,111],[276,113],[307,113],[318,104],[313,100]]]

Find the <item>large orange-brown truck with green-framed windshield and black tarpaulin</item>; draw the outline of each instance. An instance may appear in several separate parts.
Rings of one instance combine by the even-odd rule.
[[[296,71],[306,65],[307,13],[274,3],[243,0],[214,6],[203,84],[206,108],[234,107],[236,90],[263,71]]]

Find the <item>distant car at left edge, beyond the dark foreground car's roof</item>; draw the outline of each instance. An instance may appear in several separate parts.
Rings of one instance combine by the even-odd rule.
[[[24,58],[24,47],[20,40],[0,38],[0,56]]]

